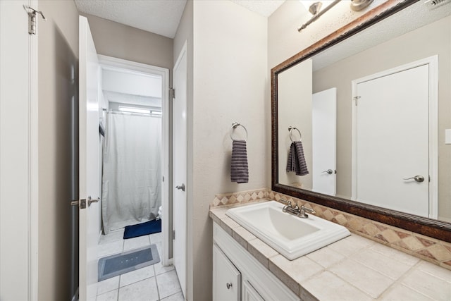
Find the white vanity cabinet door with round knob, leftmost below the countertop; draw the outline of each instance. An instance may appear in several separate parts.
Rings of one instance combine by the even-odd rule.
[[[241,274],[228,257],[213,245],[213,301],[241,300]]]

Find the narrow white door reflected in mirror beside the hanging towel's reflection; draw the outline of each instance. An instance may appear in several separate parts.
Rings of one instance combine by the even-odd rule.
[[[326,195],[335,195],[337,88],[313,94],[311,102],[313,190]]]

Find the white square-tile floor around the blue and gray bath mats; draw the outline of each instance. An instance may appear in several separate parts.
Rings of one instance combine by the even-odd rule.
[[[155,244],[161,258],[161,233],[123,239],[123,229],[101,235],[99,258]],[[183,301],[182,290],[173,266],[161,262],[101,281],[97,301]]]

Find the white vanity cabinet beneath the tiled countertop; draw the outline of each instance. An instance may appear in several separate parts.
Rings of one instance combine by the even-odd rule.
[[[217,223],[213,240],[213,301],[300,300]]]

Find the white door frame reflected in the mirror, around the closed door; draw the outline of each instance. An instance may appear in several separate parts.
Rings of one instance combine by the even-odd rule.
[[[357,106],[354,105],[357,97],[357,85],[369,80],[383,78],[393,73],[419,66],[429,66],[429,215],[431,219],[438,216],[438,56],[429,56],[425,59],[406,63],[395,68],[383,70],[379,73],[352,80],[352,173],[351,173],[351,199],[356,200],[357,195]]]

